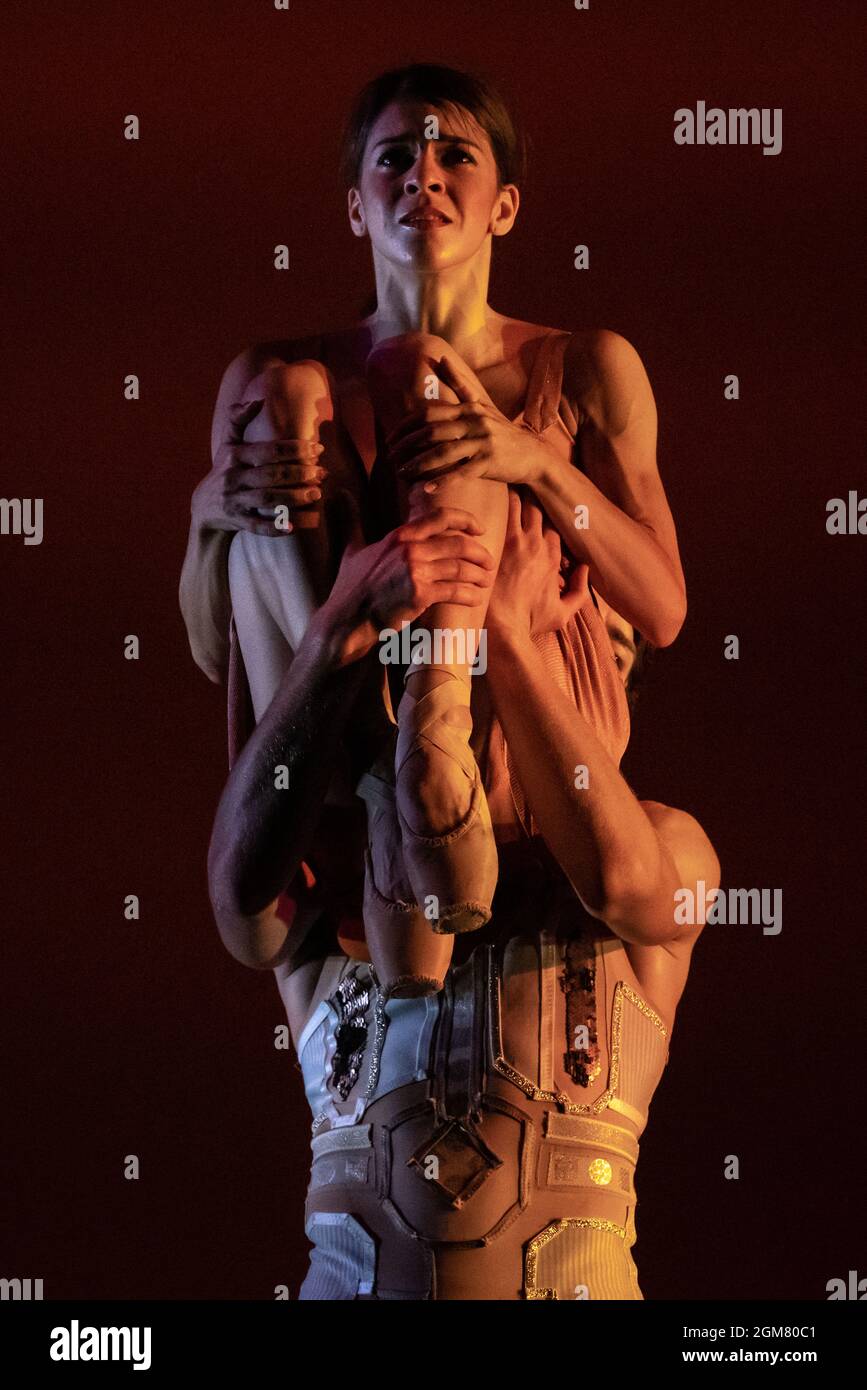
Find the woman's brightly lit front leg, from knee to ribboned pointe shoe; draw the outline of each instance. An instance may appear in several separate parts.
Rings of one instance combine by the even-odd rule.
[[[428,334],[406,334],[372,350],[368,388],[385,431],[425,400],[427,384],[438,381],[434,361],[443,354],[456,356],[443,339]],[[438,399],[457,402],[442,382]],[[406,489],[400,499],[406,514]],[[417,499],[421,512],[434,506],[472,512],[485,527],[484,545],[499,562],[509,514],[506,484],[445,475],[436,493],[428,499],[417,492]],[[435,903],[432,926],[438,931],[482,926],[490,916],[496,887],[493,828],[470,749],[470,670],[486,612],[485,598],[474,607],[435,603],[422,614],[415,626],[431,634],[434,660],[410,667],[397,709],[396,780],[404,859],[418,902]],[[465,644],[445,639],[446,634],[461,632]]]

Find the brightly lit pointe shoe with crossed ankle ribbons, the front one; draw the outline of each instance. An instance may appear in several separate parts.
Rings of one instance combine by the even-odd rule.
[[[418,699],[404,689],[400,702],[395,760],[397,816],[413,895],[424,905],[425,912],[434,906],[429,927],[435,933],[454,935],[477,931],[490,920],[499,860],[488,798],[467,731],[443,719],[456,706],[468,712],[459,685],[461,677],[450,667],[434,669],[446,670],[453,680],[442,681]],[[413,670],[418,667],[410,667],[407,677]],[[468,677],[463,680],[470,684]],[[467,812],[443,834],[420,834],[407,823],[400,805],[402,770],[422,741],[438,748],[452,762],[452,769],[446,763],[446,776],[460,778],[464,787],[470,787]]]

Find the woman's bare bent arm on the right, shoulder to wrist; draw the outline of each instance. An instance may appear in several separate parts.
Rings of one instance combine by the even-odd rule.
[[[574,341],[563,391],[581,416],[581,473],[552,452],[534,484],[539,505],[591,582],[654,646],[674,642],[686,591],[671,510],[656,464],[656,404],[635,349],[620,334]],[[578,352],[579,349],[579,352]],[[586,475],[585,475],[586,474]],[[575,527],[575,507],[589,525]]]

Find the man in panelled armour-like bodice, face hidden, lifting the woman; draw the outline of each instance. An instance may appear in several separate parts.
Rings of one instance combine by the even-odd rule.
[[[622,778],[632,630],[595,602],[586,567],[564,587],[560,539],[517,492],[486,617],[518,812],[497,842],[492,919],[454,938],[427,998],[386,999],[338,944],[360,910],[365,833],[358,816],[357,853],[329,862],[349,812],[325,794],[381,685],[378,631],[424,612],[454,573],[456,535],[461,584],[490,582],[478,525],[456,509],[349,546],[215,817],[217,924],[238,960],[275,972],[314,1116],[300,1297],[641,1298],[638,1140],[700,931],[675,923],[674,897],[716,887],[718,865],[689,815]],[[571,616],[579,709],[543,660]],[[292,901],[303,860],[315,883]]]

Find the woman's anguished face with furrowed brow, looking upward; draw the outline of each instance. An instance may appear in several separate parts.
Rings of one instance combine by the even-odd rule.
[[[431,115],[439,139],[425,135]],[[447,221],[402,221],[418,204]],[[393,101],[379,113],[349,193],[356,235],[368,235],[374,253],[392,264],[427,274],[471,260],[490,235],[511,228],[517,210],[518,190],[500,189],[490,142],[474,117],[418,101]]]

